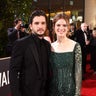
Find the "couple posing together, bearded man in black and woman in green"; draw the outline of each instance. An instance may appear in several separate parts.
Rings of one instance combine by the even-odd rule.
[[[69,18],[57,14],[53,18],[56,41],[44,37],[47,17],[35,10],[29,20],[31,34],[18,39],[10,60],[12,96],[80,96],[81,48],[67,37]]]

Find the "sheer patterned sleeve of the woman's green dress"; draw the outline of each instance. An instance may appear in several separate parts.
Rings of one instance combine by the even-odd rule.
[[[82,83],[82,54],[81,47],[77,43],[75,47],[75,79],[76,79],[76,91],[75,96],[80,96],[81,83]]]

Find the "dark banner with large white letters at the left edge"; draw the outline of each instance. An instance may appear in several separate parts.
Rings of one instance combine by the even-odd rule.
[[[9,62],[10,57],[0,58],[0,96],[11,96]]]

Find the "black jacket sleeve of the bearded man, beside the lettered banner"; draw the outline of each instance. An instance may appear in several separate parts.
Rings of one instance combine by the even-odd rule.
[[[10,88],[12,96],[21,96],[20,93],[20,69],[23,60],[23,51],[22,45],[20,42],[16,41],[14,43],[12,56],[9,66],[9,79],[10,79]]]

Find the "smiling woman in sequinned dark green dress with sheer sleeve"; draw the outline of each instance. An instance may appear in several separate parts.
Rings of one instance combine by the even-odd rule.
[[[56,41],[50,56],[49,96],[80,96],[82,54],[80,45],[68,38],[69,18],[57,14],[53,18]]]

